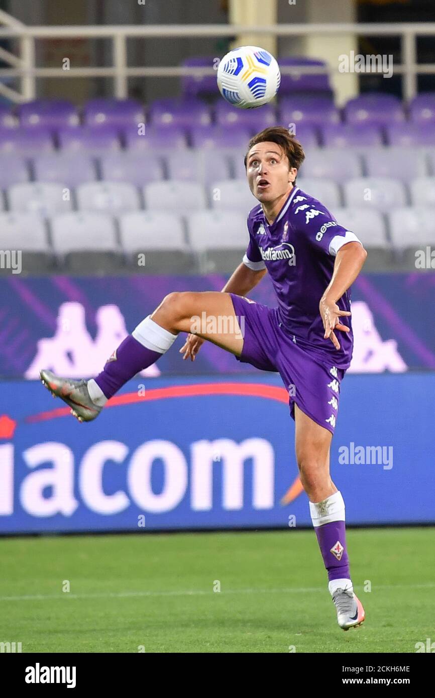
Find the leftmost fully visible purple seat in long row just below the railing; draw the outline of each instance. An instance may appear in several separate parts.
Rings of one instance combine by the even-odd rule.
[[[80,123],[75,106],[62,99],[36,99],[17,107],[21,126],[78,126]]]

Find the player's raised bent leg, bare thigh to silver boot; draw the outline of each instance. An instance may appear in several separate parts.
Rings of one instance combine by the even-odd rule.
[[[179,332],[195,332],[237,356],[242,352],[242,332],[229,293],[175,292],[121,342],[96,378],[60,378],[45,369],[40,378],[80,422],[90,422],[124,383],[170,349]]]

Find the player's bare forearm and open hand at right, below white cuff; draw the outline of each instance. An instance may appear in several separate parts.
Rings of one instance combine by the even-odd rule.
[[[341,332],[349,332],[349,328],[343,325],[339,318],[343,315],[351,315],[350,312],[340,310],[337,301],[353,284],[367,258],[367,251],[359,242],[348,242],[337,252],[334,263],[332,279],[327,285],[323,296],[320,298],[319,310],[325,327],[325,339],[329,339],[336,349],[340,343],[334,333],[334,329]]]

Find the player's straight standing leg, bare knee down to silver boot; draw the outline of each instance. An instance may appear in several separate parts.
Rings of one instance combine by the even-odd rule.
[[[340,628],[348,630],[364,621],[364,609],[353,593],[346,546],[345,507],[341,492],[330,477],[332,433],[295,405],[295,447],[304,490],[309,497],[311,521],[337,608]]]

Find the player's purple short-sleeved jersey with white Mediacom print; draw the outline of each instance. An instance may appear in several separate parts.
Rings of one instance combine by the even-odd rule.
[[[337,350],[330,339],[323,337],[318,304],[330,283],[337,251],[346,242],[360,240],[339,225],[323,204],[297,186],[272,225],[258,205],[249,213],[248,229],[244,264],[269,272],[283,329],[320,361],[347,369],[353,348],[351,317],[341,318],[351,332],[337,332],[341,346]],[[341,310],[351,310],[350,289],[337,304]]]

